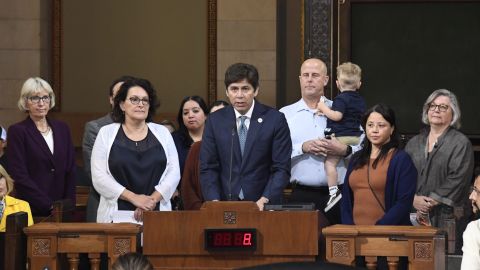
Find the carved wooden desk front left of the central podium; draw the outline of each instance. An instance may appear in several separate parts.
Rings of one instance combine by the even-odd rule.
[[[108,265],[122,254],[135,252],[141,226],[131,223],[39,223],[24,229],[29,269],[59,269],[58,253],[65,253],[69,269],[78,268],[78,254],[88,253],[91,269],[98,269],[100,253]]]

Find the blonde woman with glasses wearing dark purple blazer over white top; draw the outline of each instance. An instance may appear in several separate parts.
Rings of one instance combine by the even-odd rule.
[[[29,78],[18,100],[28,116],[8,129],[8,171],[16,196],[30,204],[33,216],[49,216],[54,201],[75,205],[75,152],[68,126],[47,117],[54,106],[50,84]]]

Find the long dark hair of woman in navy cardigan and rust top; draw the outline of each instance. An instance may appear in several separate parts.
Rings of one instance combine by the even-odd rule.
[[[387,120],[387,122],[390,123],[390,125],[394,129],[393,129],[392,135],[390,136],[390,141],[387,142],[386,144],[382,145],[382,147],[380,148],[380,154],[373,161],[372,167],[376,168],[378,162],[380,160],[386,158],[390,149],[393,148],[393,149],[395,149],[395,151],[396,151],[396,149],[398,149],[399,139],[398,139],[398,136],[397,136],[397,124],[395,122],[395,113],[393,112],[393,110],[390,107],[388,107],[385,104],[380,103],[380,104],[374,105],[373,107],[368,109],[363,114],[363,117],[362,117],[362,128],[365,131],[365,138],[363,139],[363,142],[362,142],[362,150],[358,151],[353,156],[353,159],[356,160],[356,163],[355,163],[355,166],[354,166],[353,169],[359,169],[359,168],[367,165],[368,162],[370,161],[370,154],[372,153],[372,143],[368,140],[366,132],[367,132],[368,117],[373,112],[376,112],[376,113],[379,113],[380,115],[382,115],[383,118],[385,118],[385,120]]]

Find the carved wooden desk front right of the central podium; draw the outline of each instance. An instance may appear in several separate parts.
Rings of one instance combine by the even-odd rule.
[[[377,256],[396,269],[398,257],[408,257],[410,270],[445,269],[445,237],[434,227],[334,225],[323,229],[329,262],[353,265],[365,256],[368,269]]]

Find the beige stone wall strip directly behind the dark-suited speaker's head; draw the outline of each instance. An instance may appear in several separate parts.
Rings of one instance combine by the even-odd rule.
[[[218,0],[217,97],[226,99],[223,78],[236,62],[260,74],[259,101],[276,102],[276,0]]]

